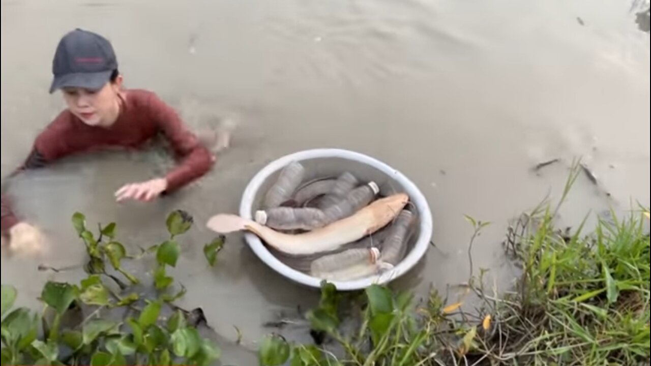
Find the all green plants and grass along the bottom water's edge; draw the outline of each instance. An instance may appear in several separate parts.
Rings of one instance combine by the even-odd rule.
[[[590,231],[587,220],[558,229],[578,166],[557,206],[541,204],[508,230],[505,249],[521,265],[512,290],[486,289],[484,270],[462,285],[472,302],[449,303],[436,291],[416,301],[380,285],[343,293],[324,281],[320,303],[305,314],[315,343],[268,335],[258,346],[260,365],[648,365],[648,208],[622,218],[611,212]],[[472,260],[473,241],[488,223],[467,219],[475,229]],[[197,330],[201,309],[174,305],[185,289],[167,274],[180,255],[178,236],[192,225],[188,214],[170,214],[169,240],[137,255],[117,242],[114,223],[97,236],[83,215],[73,223],[89,254],[88,276],[79,285],[46,283],[42,314],[14,309],[16,289],[2,286],[2,365],[208,365],[219,358]],[[211,266],[223,244],[218,237],[204,247]],[[150,292],[123,267],[148,255],[155,258]]]

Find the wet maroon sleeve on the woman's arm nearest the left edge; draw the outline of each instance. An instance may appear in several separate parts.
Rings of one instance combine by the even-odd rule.
[[[53,160],[71,152],[71,144],[68,143],[68,139],[74,134],[70,133],[69,122],[70,118],[66,113],[61,113],[57,119],[53,120],[48,128],[36,137],[36,141],[25,162],[3,181],[0,189],[2,192],[0,231],[3,235],[6,235],[9,229],[21,221],[12,208],[11,197],[7,194],[8,184],[10,184],[14,176],[22,171],[45,167]]]

